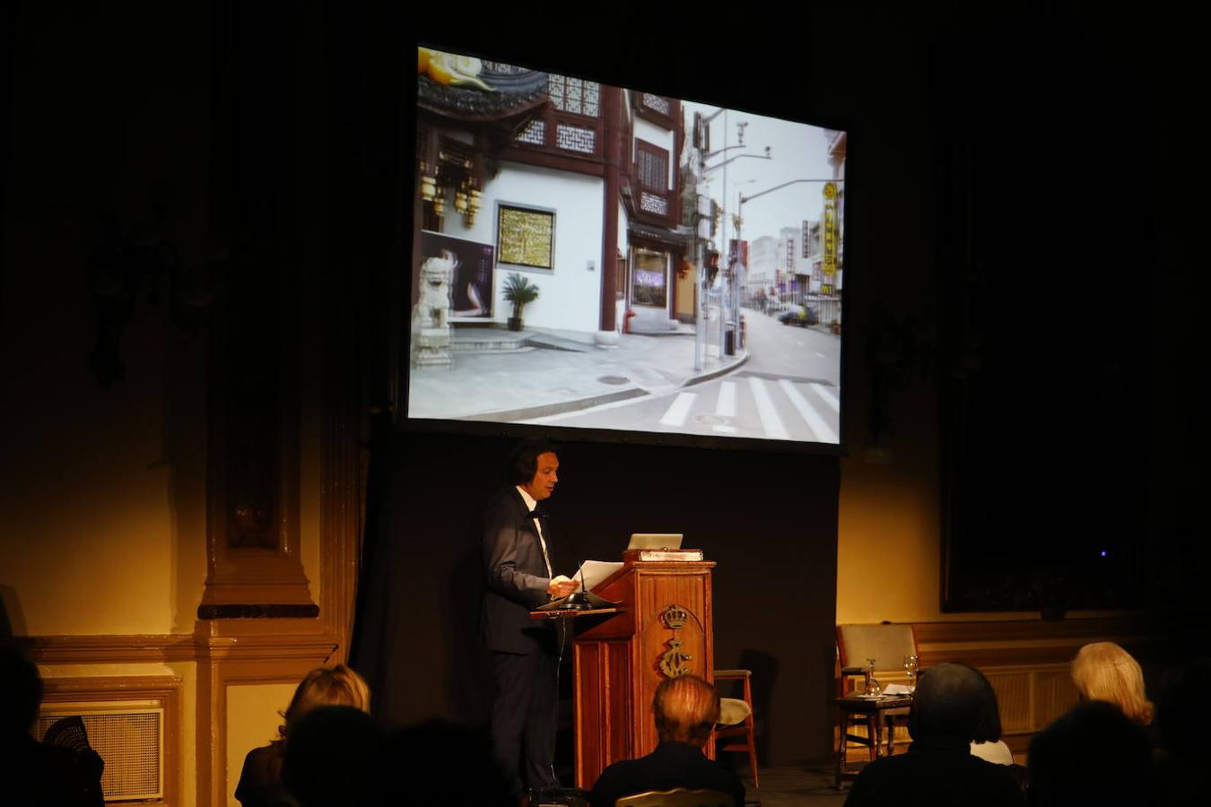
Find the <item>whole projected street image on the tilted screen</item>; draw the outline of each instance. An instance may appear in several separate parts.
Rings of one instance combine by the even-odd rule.
[[[417,104],[409,419],[839,443],[844,132],[429,48]]]

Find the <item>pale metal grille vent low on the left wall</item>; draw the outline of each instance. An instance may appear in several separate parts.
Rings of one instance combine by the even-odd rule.
[[[34,736],[41,739],[54,721],[71,715],[80,716],[88,744],[105,760],[107,802],[163,797],[163,709],[42,713]]]

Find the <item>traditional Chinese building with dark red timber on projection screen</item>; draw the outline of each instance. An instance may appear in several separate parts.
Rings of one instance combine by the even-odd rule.
[[[512,273],[539,289],[526,328],[575,339],[621,328],[627,311],[637,329],[693,311],[693,278],[677,283],[679,102],[430,53],[440,69],[418,79],[412,259],[454,258],[455,324],[504,324]]]

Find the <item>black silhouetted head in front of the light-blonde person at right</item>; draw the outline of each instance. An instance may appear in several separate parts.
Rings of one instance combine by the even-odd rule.
[[[1152,753],[1143,728],[1094,701],[1034,736],[1028,771],[1031,805],[1136,807],[1148,803]]]

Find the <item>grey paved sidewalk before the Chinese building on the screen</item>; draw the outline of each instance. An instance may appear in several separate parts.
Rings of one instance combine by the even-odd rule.
[[[721,359],[718,345],[710,344],[701,369],[695,370],[693,332],[621,334],[616,347],[486,329],[455,330],[455,345],[460,341],[475,341],[481,350],[452,351],[450,368],[412,368],[411,417],[545,417],[670,392],[728,373],[748,358],[740,350]],[[484,348],[484,342],[495,350]]]

